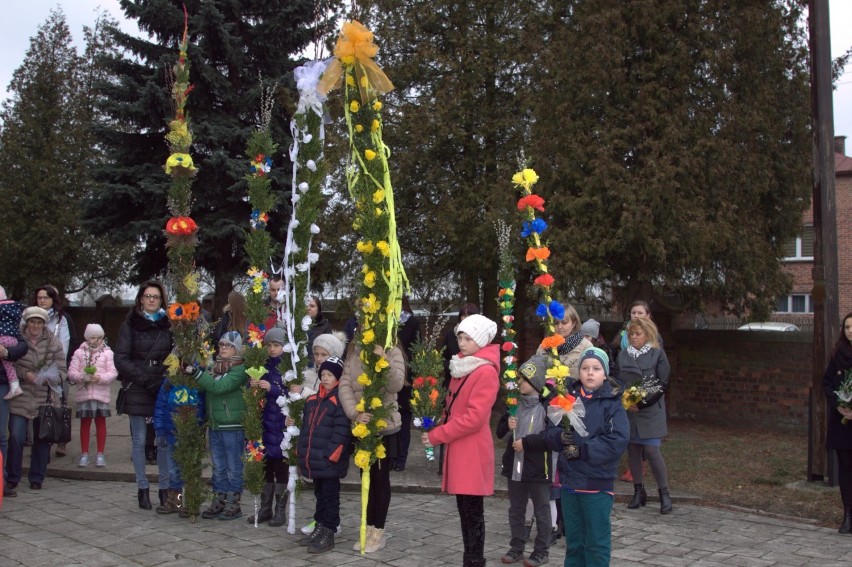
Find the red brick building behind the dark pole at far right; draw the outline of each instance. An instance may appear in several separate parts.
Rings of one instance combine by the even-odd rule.
[[[834,138],[835,200],[837,206],[838,293],[840,313],[852,311],[852,157],[846,155],[846,136]],[[784,258],[785,271],[793,276],[793,291],[778,301],[776,313],[813,313],[814,224],[813,208],[804,213],[805,230],[801,237],[788,243]]]

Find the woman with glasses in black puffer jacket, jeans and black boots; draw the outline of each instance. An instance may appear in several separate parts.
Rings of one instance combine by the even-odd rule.
[[[153,417],[154,403],[163,382],[163,361],[172,351],[172,333],[163,305],[166,293],[156,281],[142,284],[136,304],[121,324],[115,345],[115,367],[125,391],[122,411],[130,418],[131,458],[136,473],[139,507],[151,509],[145,476],[145,418]]]

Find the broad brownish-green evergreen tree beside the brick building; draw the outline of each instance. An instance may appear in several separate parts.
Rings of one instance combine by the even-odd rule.
[[[766,313],[811,190],[802,3],[543,4],[531,153],[557,282]]]

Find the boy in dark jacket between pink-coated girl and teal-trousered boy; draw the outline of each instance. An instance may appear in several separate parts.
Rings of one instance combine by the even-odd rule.
[[[518,368],[518,405],[514,416],[507,412],[497,424],[497,437],[511,436],[518,441],[528,435],[541,433],[547,427],[545,378],[550,358],[536,355]],[[553,483],[552,457],[549,450],[528,449],[516,452],[512,443],[503,453],[502,474],[509,479],[509,528],[512,539],[509,551],[500,559],[503,563],[524,560],[527,500],[532,501],[536,537],[533,552],[524,560],[525,567],[547,563],[551,540],[550,486]]]

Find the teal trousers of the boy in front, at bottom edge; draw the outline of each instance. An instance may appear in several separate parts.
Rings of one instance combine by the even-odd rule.
[[[612,552],[612,495],[562,491],[565,567],[608,567]]]

